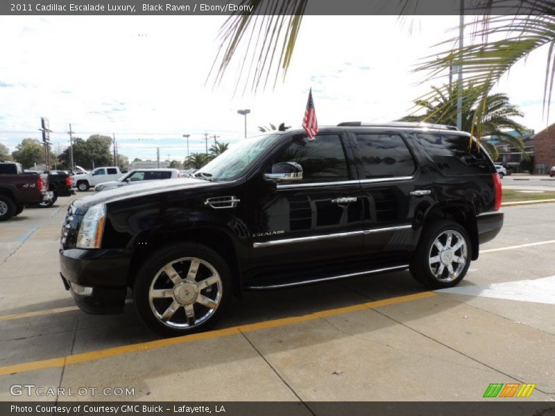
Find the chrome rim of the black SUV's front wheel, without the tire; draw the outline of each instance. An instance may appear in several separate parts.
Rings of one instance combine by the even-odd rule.
[[[221,277],[214,266],[197,257],[182,257],[156,273],[148,302],[157,320],[183,329],[196,327],[214,315],[222,293]]]

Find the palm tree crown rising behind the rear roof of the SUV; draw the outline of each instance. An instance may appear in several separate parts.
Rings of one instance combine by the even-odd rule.
[[[400,121],[425,121],[427,123],[438,123],[446,125],[456,125],[456,84],[449,88],[447,86],[447,94],[445,87],[432,87],[435,95],[430,100],[416,100],[415,107],[425,110],[424,114],[404,116]],[[480,104],[479,89],[472,85],[463,90],[463,111],[462,111],[462,128],[465,132],[476,131],[477,121],[475,114],[477,106]],[[490,94],[486,100],[486,107],[482,111],[482,135],[495,136],[497,140],[508,144],[514,148],[518,148],[522,155],[527,153],[524,151],[524,142],[518,137],[513,137],[503,130],[510,129],[522,134],[526,128],[524,125],[511,119],[511,117],[523,117],[524,114],[518,110],[516,105],[509,102],[506,94]],[[482,141],[482,144],[488,150],[494,160],[497,160],[499,153],[497,148],[489,141]]]

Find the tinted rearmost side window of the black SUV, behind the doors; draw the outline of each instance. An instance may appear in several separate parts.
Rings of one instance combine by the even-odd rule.
[[[484,150],[468,137],[432,133],[418,133],[417,137],[444,175],[493,173]]]

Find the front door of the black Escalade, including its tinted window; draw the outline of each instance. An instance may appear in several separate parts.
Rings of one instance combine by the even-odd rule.
[[[321,134],[314,141],[293,135],[268,162],[266,173],[272,164],[296,162],[303,179],[264,184],[253,196],[258,198],[250,218],[255,274],[287,269],[294,274],[301,265],[321,267],[360,255],[363,206],[344,139],[338,133]]]

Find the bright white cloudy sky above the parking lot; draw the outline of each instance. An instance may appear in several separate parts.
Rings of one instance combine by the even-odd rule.
[[[222,142],[257,126],[300,126],[311,87],[319,125],[392,121],[429,91],[413,69],[454,36],[458,16],[306,16],[291,67],[256,94],[234,93],[237,63],[221,85],[206,83],[225,17],[92,16],[0,17],[0,143],[15,150],[25,137],[40,139],[40,118],[60,150],[74,137],[112,134],[119,153],[134,159],[182,160],[205,150],[205,132]],[[412,23],[412,28],[410,28]],[[554,119],[542,114],[547,49],[517,64],[495,91],[519,105],[528,128]],[[555,106],[554,106],[555,107]]]

